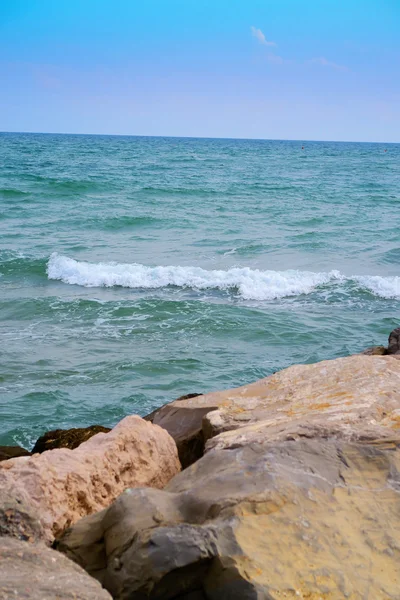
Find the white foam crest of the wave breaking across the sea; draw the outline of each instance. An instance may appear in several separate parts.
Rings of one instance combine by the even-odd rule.
[[[355,282],[358,287],[383,298],[400,297],[400,277],[345,277],[339,271],[260,271],[248,267],[208,271],[200,267],[89,263],[54,253],[49,259],[47,274],[49,279],[85,287],[157,289],[176,286],[195,290],[237,290],[246,300],[309,294],[316,287],[334,281],[339,284]]]

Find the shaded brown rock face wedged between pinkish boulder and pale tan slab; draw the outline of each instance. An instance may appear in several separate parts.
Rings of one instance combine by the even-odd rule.
[[[161,408],[144,417],[146,420],[166,429],[174,438],[178,447],[179,460],[184,469],[203,456],[204,438],[201,420],[209,409],[204,411],[200,407],[188,411],[185,405],[182,406],[182,410],[178,408],[178,411],[176,411],[175,407],[176,405],[180,407],[181,404],[183,405],[183,401],[197,398],[200,395],[186,394],[180,396],[173,402],[164,404]]]

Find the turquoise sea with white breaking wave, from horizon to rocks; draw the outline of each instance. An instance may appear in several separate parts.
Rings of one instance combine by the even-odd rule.
[[[400,145],[301,147],[0,134],[0,444],[385,343]]]

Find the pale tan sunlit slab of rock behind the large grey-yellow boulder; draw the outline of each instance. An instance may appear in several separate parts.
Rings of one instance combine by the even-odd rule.
[[[388,356],[295,365],[219,394],[219,409],[203,419],[206,449],[299,437],[373,440],[400,433],[400,363]]]

